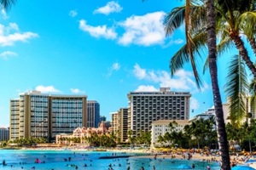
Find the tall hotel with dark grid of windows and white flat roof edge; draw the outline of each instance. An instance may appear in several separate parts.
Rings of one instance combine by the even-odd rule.
[[[189,120],[189,92],[172,92],[160,88],[158,92],[131,92],[128,94],[128,129],[135,135],[140,130],[151,130],[158,120]]]

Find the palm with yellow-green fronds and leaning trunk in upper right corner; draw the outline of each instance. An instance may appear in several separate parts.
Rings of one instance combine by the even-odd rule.
[[[223,25],[227,33],[229,33],[230,39],[235,43],[236,48],[239,51],[242,59],[246,62],[249,70],[253,73],[253,77],[256,78],[256,68],[253,65],[252,60],[248,56],[247,48],[245,48],[244,42],[241,40],[240,31],[243,31],[247,35],[248,39],[252,39],[252,35],[255,34],[255,29],[247,28],[247,25],[255,24],[256,13],[252,10],[255,10],[255,2],[249,1],[240,1],[240,0],[226,0],[225,3],[230,3],[229,6],[224,3],[219,3],[218,10],[221,11],[220,23],[227,23]],[[224,5],[223,5],[224,4]],[[226,6],[226,7],[224,7]],[[253,7],[253,8],[252,8]],[[252,14],[253,13],[253,14]],[[247,20],[248,18],[253,18]],[[252,41],[252,40],[251,40]],[[253,43],[251,43],[252,47]]]

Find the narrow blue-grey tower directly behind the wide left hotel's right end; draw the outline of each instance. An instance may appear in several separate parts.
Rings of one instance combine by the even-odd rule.
[[[100,104],[96,100],[87,101],[87,127],[99,127]]]

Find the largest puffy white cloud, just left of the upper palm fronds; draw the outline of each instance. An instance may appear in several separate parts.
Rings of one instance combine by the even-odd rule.
[[[150,46],[163,44],[165,31],[163,20],[166,13],[154,12],[143,16],[132,15],[124,22],[119,22],[119,26],[125,29],[125,33],[119,38],[119,43],[129,45],[131,43]]]

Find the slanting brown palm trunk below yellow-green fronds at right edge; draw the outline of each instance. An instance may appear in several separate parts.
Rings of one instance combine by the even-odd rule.
[[[252,60],[248,56],[247,49],[245,48],[244,42],[242,42],[241,37],[239,37],[239,33],[236,31],[230,31],[230,37],[232,41],[235,42],[236,48],[239,50],[241,58],[245,61],[249,70],[253,73],[253,77],[256,78],[256,68],[253,65]]]

